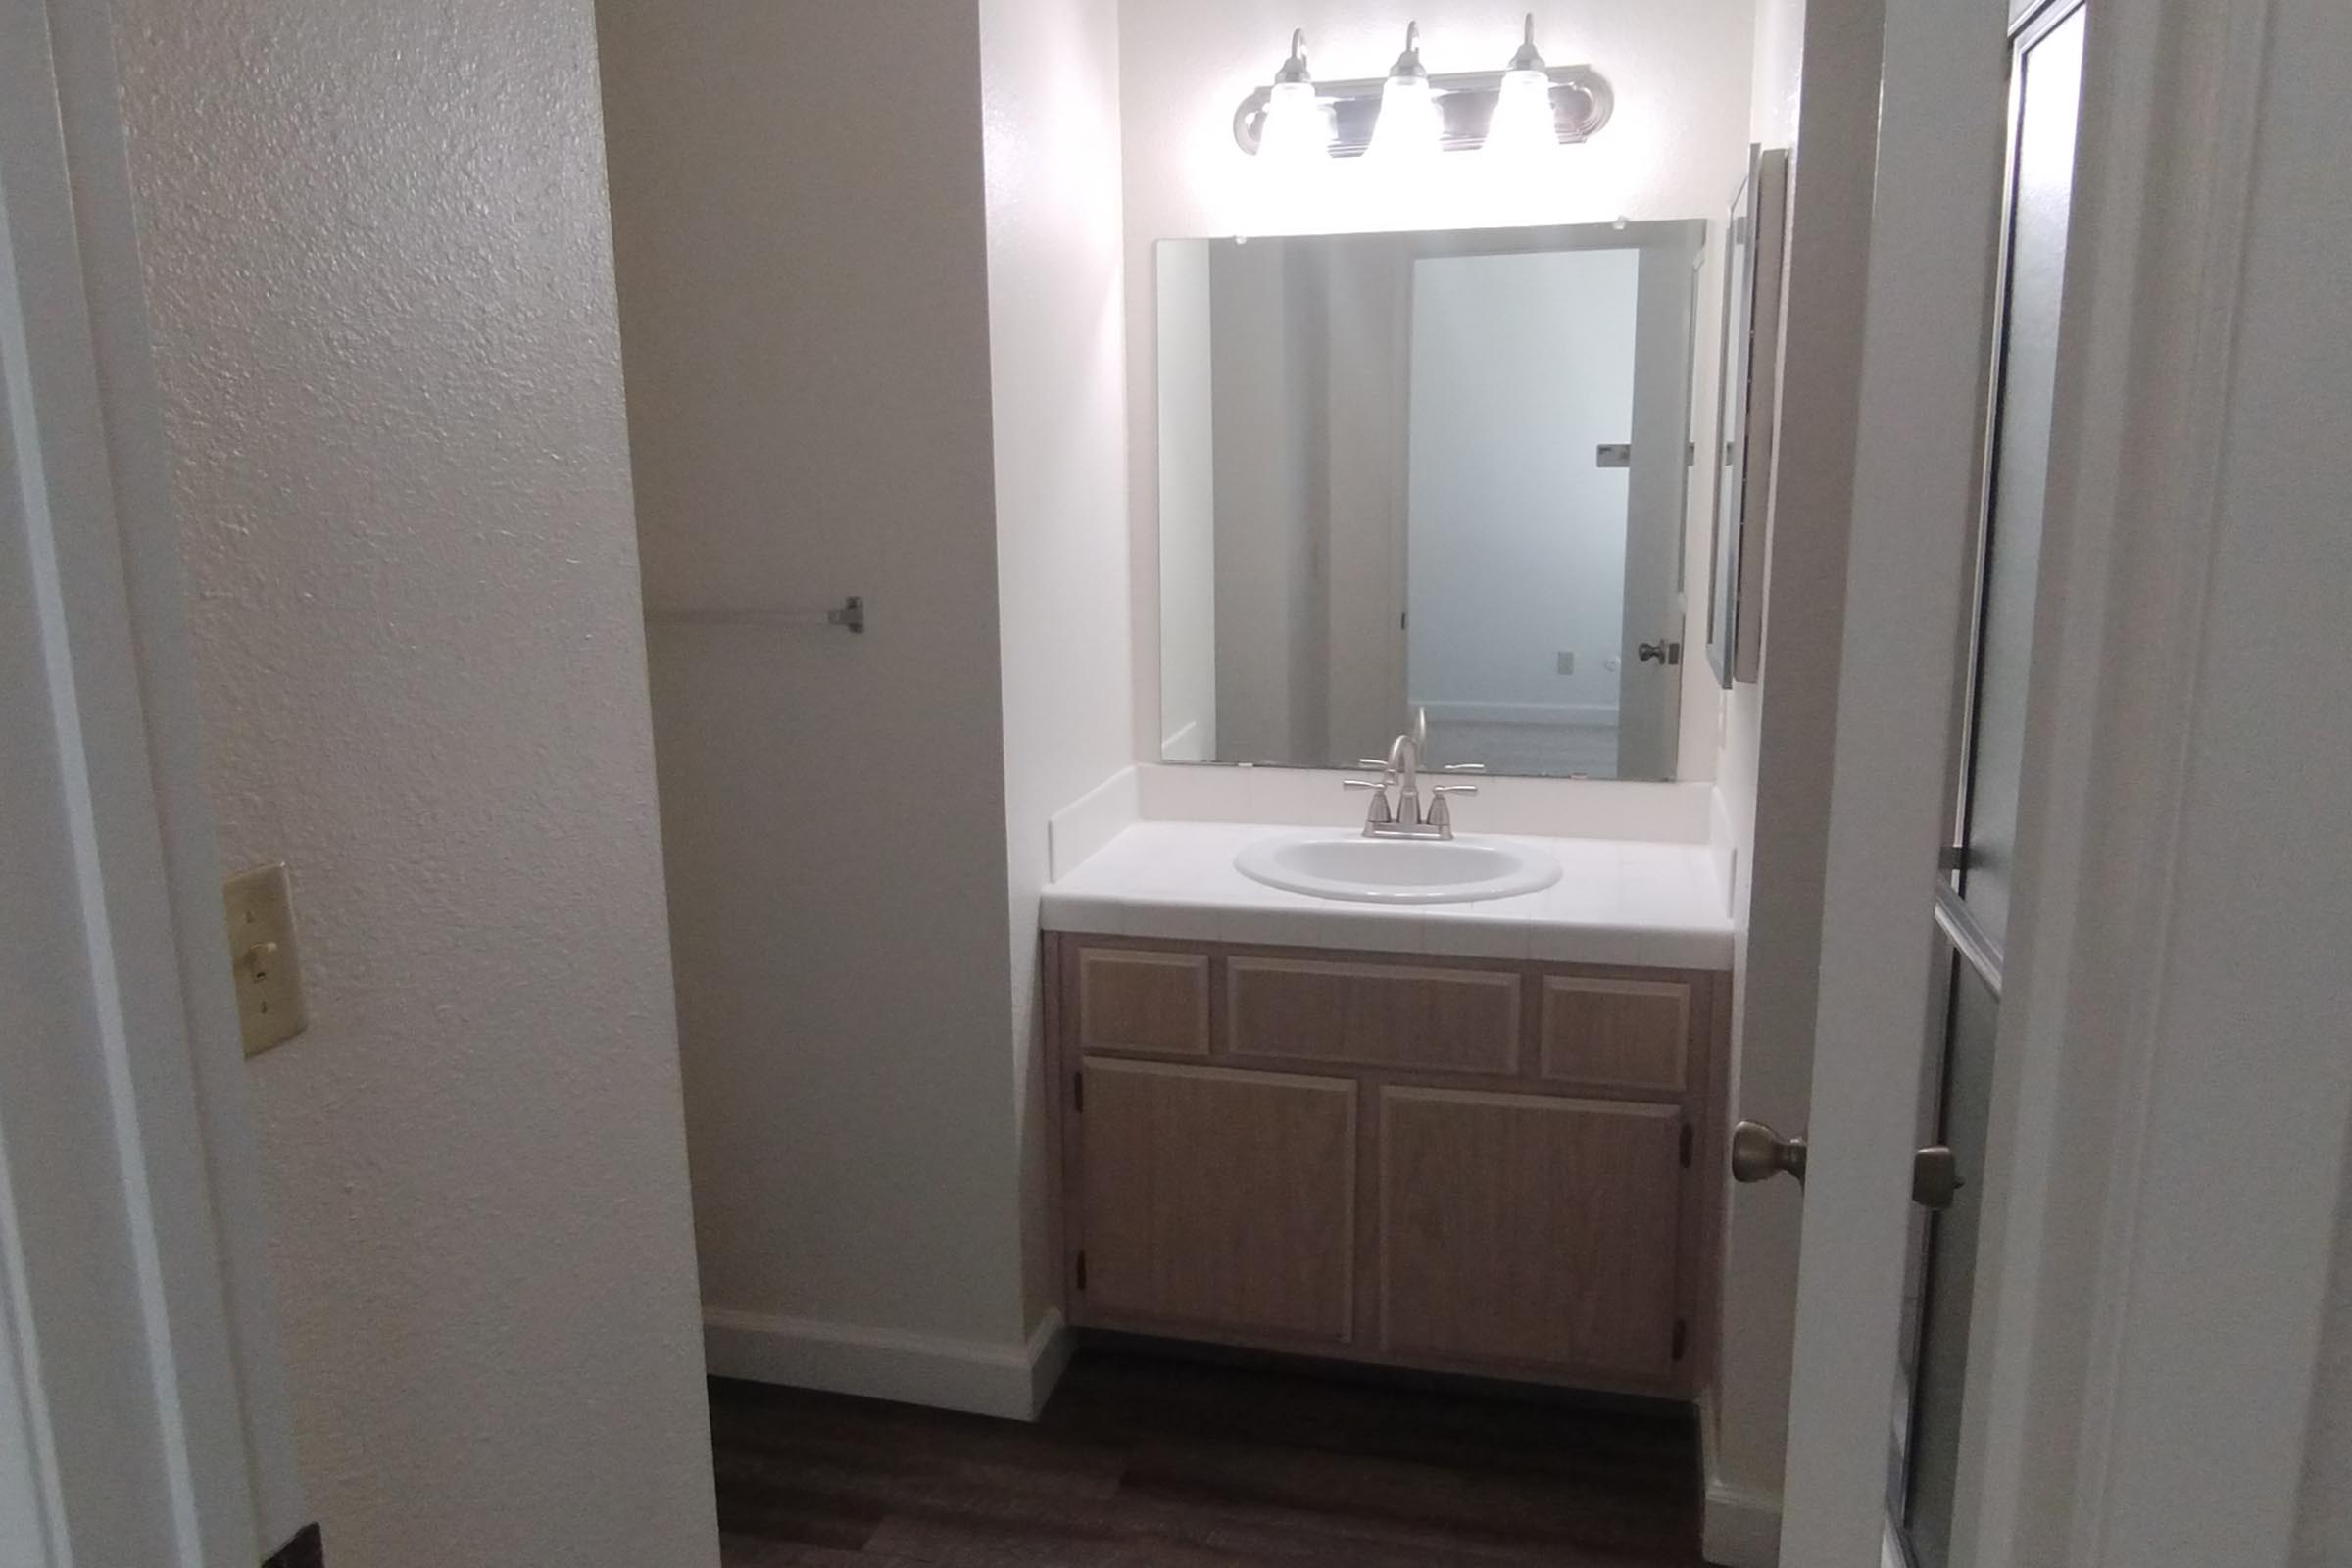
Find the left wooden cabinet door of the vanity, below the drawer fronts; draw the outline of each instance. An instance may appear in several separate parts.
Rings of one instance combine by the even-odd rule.
[[[1345,1342],[1355,1084],[1084,1060],[1084,1319]]]

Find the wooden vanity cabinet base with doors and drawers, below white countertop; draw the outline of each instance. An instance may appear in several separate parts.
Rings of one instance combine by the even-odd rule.
[[[1065,1309],[1689,1396],[1726,978],[1047,933]]]

